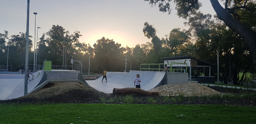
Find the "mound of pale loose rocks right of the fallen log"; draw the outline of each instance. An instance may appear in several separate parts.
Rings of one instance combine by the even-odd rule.
[[[179,96],[184,95],[185,97],[191,96],[207,96],[221,94],[211,88],[197,84],[197,83],[186,83],[186,84],[168,84],[161,85],[153,88],[150,91],[159,92],[160,96]]]

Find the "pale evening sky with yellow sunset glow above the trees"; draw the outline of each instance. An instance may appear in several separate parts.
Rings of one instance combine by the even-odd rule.
[[[209,0],[199,1],[201,12],[216,14]],[[186,20],[176,15],[175,6],[171,8],[168,15],[144,0],[30,0],[29,35],[34,42],[35,27],[41,27],[39,39],[52,25],[59,25],[70,33],[79,31],[79,42],[91,46],[105,37],[122,47],[135,47],[151,41],[143,34],[144,22],[155,27],[159,38],[165,38],[173,28],[188,29],[183,24]],[[10,37],[26,31],[27,0],[0,0],[0,12],[0,33],[7,30]]]

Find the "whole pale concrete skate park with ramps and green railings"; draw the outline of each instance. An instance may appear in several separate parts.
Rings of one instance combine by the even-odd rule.
[[[189,62],[189,61],[187,61]],[[168,64],[164,62],[163,64]],[[160,64],[160,65],[163,65]],[[177,63],[174,63],[177,65]],[[183,66],[184,64],[181,64]],[[157,64],[156,64],[157,65]],[[158,64],[159,65],[159,64]],[[158,66],[157,65],[157,66]],[[159,65],[159,66],[160,66]],[[186,64],[187,65],[187,64]],[[51,67],[51,65],[49,65]],[[149,68],[141,68],[141,70],[147,71],[134,71],[130,70],[129,73],[126,72],[107,72],[107,82],[102,83],[102,77],[96,80],[83,80],[82,75],[79,71],[72,70],[39,70],[35,73],[34,79],[27,83],[27,93],[32,93],[39,90],[45,86],[48,82],[70,82],[76,81],[84,85],[89,85],[90,87],[96,89],[97,91],[110,94],[113,88],[134,88],[133,82],[136,74],[140,75],[141,78],[141,89],[148,91],[160,85],[173,84],[173,83],[187,83],[188,73],[186,69],[174,69],[173,71],[181,72],[161,72],[161,68],[153,68],[152,65]],[[15,78],[15,79],[13,79]],[[105,79],[103,80],[105,81]],[[1,74],[1,91],[0,100],[15,99],[22,97],[24,94],[24,75],[21,74]],[[5,83],[7,82],[7,83]]]

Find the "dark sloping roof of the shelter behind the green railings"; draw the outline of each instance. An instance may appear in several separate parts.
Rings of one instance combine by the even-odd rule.
[[[209,63],[209,62],[206,62],[206,61],[203,61],[203,60],[191,57],[191,56],[165,57],[165,58],[161,58],[161,59],[162,60],[194,59],[194,60],[197,61],[197,65],[200,65],[200,66],[215,66],[212,63]]]

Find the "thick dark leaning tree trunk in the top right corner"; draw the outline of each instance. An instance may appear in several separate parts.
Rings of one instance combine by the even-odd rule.
[[[247,28],[243,23],[235,19],[229,12],[227,12],[218,2],[218,0],[210,0],[214,11],[218,18],[236,31],[245,41],[245,44],[250,52],[252,63],[256,63],[256,32]]]

